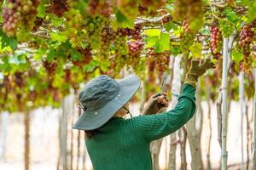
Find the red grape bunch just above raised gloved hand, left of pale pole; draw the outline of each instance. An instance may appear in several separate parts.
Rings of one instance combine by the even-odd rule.
[[[221,57],[222,35],[217,26],[210,27],[211,31],[211,51],[214,59]]]

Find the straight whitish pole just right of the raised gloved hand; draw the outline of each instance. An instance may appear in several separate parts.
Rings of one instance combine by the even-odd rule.
[[[227,75],[228,75],[228,44],[229,38],[224,37],[224,53],[223,53],[223,71],[222,71],[222,82],[221,82],[221,90],[222,90],[222,147],[221,147],[221,170],[227,169],[227,158],[228,152],[226,150],[226,135],[227,135]]]

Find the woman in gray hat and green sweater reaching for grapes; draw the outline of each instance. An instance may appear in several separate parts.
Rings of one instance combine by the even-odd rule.
[[[172,111],[154,114],[160,110],[159,102],[166,102],[163,96],[155,95],[144,110],[146,115],[130,119],[122,116],[129,113],[127,103],[140,87],[137,76],[131,75],[119,82],[100,76],[87,82],[79,94],[84,112],[73,128],[87,133],[85,144],[94,169],[152,169],[150,142],[175,132],[194,116],[197,79],[213,67],[210,59],[201,65],[199,61],[192,61]]]

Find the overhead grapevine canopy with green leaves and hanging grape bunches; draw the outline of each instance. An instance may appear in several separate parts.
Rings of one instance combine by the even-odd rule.
[[[71,88],[78,90],[81,82],[99,74],[121,77],[124,70],[134,71],[154,84],[168,71],[170,55],[210,56],[220,65],[222,38],[234,32],[235,65],[230,71],[237,73],[241,67],[252,77],[255,4],[251,0],[1,1],[0,110],[58,106]]]

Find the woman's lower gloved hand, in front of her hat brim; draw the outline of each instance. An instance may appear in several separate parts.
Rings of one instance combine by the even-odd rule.
[[[164,94],[154,94],[150,97],[148,103],[146,104],[143,115],[152,115],[160,111],[161,108],[168,106],[168,99],[166,98],[166,93]]]

